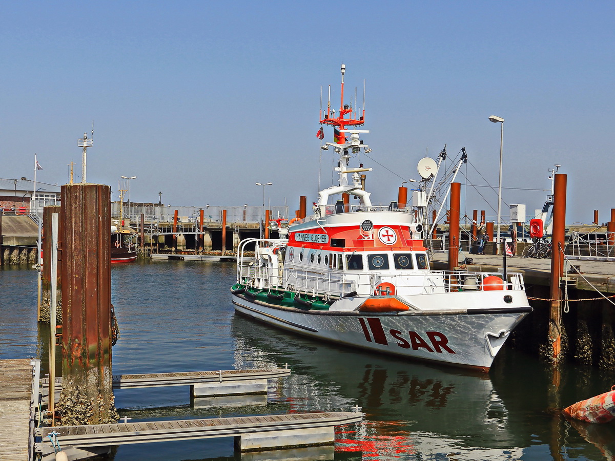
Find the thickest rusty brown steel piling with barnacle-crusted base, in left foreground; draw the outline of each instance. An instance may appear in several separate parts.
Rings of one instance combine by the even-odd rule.
[[[119,419],[111,373],[111,189],[62,186],[62,377],[60,424]]]

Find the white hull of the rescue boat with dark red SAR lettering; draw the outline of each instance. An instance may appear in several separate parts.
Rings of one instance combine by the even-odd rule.
[[[519,309],[450,309],[368,313],[280,307],[233,294],[239,313],[338,344],[402,357],[487,371],[510,331],[530,312]]]

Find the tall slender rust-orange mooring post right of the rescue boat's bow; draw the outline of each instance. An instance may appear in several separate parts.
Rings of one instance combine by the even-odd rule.
[[[551,360],[560,361],[561,352],[561,289],[560,282],[564,269],[563,249],[566,227],[566,175],[555,175],[553,232],[551,237],[551,280],[549,310],[549,341],[552,345]]]

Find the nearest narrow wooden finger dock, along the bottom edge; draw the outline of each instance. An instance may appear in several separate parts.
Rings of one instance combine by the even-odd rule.
[[[234,437],[241,451],[275,449],[287,446],[333,444],[335,426],[360,422],[360,412],[327,412],[208,418],[137,423],[100,424],[36,428],[36,452],[43,460],[53,459],[55,450],[49,435],[57,433],[63,451],[84,455],[90,448],[120,444]]]

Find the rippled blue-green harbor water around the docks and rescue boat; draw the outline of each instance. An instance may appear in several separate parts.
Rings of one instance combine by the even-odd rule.
[[[116,390],[121,416],[138,422],[358,405],[362,424],[338,428],[335,447],[239,454],[231,438],[220,438],[120,446],[108,459],[613,459],[613,424],[571,425],[557,411],[609,390],[612,372],[568,363],[554,373],[538,357],[504,347],[489,374],[472,374],[321,344],[235,315],[234,279],[231,263],[114,266],[112,300],[121,334],[113,373],[288,364],[291,376],[269,382],[266,396],[191,399],[188,387]],[[36,272],[4,267],[0,289],[0,359],[41,358],[47,369],[49,328],[36,322]]]

